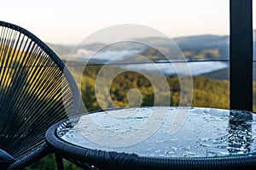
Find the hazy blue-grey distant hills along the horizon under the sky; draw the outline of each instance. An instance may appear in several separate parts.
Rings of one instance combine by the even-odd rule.
[[[256,31],[254,33],[253,47],[256,49]],[[218,35],[199,35],[190,37],[176,37],[173,41],[177,43],[177,46],[182,50],[187,59],[229,59],[230,56],[230,37],[218,36]],[[170,48],[170,39],[165,37],[147,37],[137,38],[137,42],[146,42],[152,44],[161,50],[164,50],[166,54],[172,54],[172,48]],[[104,47],[106,44],[98,42],[92,44],[84,44],[80,48],[88,51],[96,51]],[[49,43],[49,47],[58,54],[62,59],[67,59],[67,56],[73,51],[75,46],[66,46],[59,44]],[[127,49],[139,49],[141,55],[149,56],[149,59],[163,59],[163,56],[159,51],[154,48],[150,48],[146,45],[139,43],[117,43],[108,46],[105,50],[127,50]],[[73,52],[73,54],[76,52]],[[254,59],[256,59],[256,50],[253,52]],[[178,57],[177,57],[178,59]]]

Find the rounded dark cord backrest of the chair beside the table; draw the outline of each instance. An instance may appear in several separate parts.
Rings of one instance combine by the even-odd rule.
[[[61,59],[31,32],[0,21],[0,149],[25,156],[79,107],[79,89]]]

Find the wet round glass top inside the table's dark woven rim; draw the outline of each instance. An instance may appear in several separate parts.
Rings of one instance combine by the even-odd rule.
[[[138,156],[249,156],[256,154],[255,120],[248,111],[124,108],[70,118],[56,134],[87,149]]]

